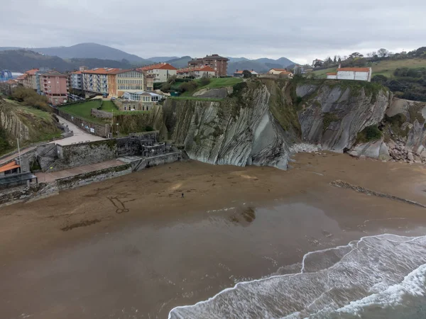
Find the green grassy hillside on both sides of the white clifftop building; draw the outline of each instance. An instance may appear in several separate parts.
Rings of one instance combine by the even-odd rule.
[[[386,77],[393,77],[393,71],[398,67],[408,67],[410,69],[416,69],[418,67],[426,67],[426,59],[407,59],[407,60],[385,60],[375,63],[371,66],[373,68],[373,76],[382,74]],[[313,73],[319,79],[325,79],[327,72],[335,72],[336,68],[332,67],[329,69],[321,69],[314,71]]]

